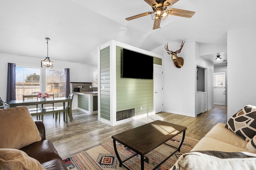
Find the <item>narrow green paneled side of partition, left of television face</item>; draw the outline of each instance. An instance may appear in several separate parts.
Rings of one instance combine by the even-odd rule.
[[[110,121],[110,47],[100,50],[100,117]]]

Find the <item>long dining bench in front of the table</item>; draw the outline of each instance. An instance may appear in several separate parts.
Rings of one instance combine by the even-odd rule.
[[[58,106],[58,107],[53,107],[53,108],[48,108],[48,109],[42,108],[41,110],[33,110],[33,111],[29,111],[29,112],[32,116],[56,113],[55,119],[57,119],[57,113],[59,113],[59,121],[60,121],[60,112],[65,112],[66,119],[64,118],[64,120],[66,121],[66,123],[68,123],[69,108],[65,107],[65,106]]]

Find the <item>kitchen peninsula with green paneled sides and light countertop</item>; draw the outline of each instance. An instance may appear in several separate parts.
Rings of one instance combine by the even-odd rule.
[[[77,95],[78,110],[88,114],[98,113],[98,92],[73,92]]]

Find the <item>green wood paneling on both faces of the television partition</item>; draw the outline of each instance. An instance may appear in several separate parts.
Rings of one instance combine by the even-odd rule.
[[[154,64],[162,65],[162,59],[154,57]],[[154,81],[121,78],[121,74],[122,47],[116,46],[116,111],[134,108],[135,115],[152,112]],[[110,121],[110,47],[100,50],[100,86],[105,86],[104,90],[100,90],[99,96],[100,117]]]

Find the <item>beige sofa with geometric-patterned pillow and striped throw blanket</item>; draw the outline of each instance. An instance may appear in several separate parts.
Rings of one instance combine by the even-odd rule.
[[[256,169],[256,106],[247,105],[227,124],[215,125],[170,170]]]

